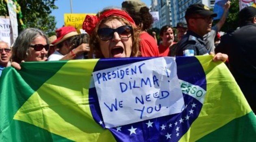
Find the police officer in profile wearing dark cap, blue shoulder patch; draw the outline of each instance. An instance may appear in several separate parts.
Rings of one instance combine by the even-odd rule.
[[[192,4],[185,13],[188,31],[178,42],[176,56],[208,55],[203,36],[210,32],[217,14],[204,4]]]

